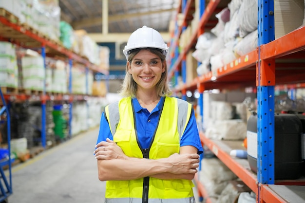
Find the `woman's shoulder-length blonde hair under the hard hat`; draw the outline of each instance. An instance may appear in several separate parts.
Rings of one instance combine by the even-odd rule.
[[[158,49],[156,48],[139,48],[135,50],[131,50],[130,54],[128,55],[128,61],[131,63],[133,60],[133,57],[137,55],[141,50],[148,50],[152,54],[157,55],[160,57],[161,61],[165,61],[165,55],[163,55]],[[119,94],[122,96],[136,96],[137,91],[137,84],[133,80],[133,76],[129,74],[128,71],[128,65],[126,63],[126,74],[123,81],[123,84],[121,86],[121,90],[119,91]],[[162,73],[161,78],[159,82],[156,84],[156,92],[158,96],[170,96],[172,94],[172,91],[170,89],[170,85],[167,82],[167,64],[165,63],[165,71]]]

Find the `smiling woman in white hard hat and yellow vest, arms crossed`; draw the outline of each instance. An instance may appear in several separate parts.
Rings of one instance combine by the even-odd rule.
[[[203,149],[191,104],[169,96],[167,51],[146,26],[123,50],[124,98],[105,108],[95,149],[105,203],[195,203],[191,180]]]

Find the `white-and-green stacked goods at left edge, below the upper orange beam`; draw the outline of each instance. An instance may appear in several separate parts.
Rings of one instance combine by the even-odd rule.
[[[0,42],[0,86],[18,87],[16,49],[10,42]]]

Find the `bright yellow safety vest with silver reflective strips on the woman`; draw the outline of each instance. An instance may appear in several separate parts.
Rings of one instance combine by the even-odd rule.
[[[148,150],[141,149],[137,143],[131,97],[123,98],[105,108],[114,142],[127,156],[160,159],[179,153],[180,138],[189,122],[192,106],[173,97],[165,97],[162,106],[159,123]],[[105,203],[195,203],[193,186],[191,180],[162,180],[152,177],[107,181]]]

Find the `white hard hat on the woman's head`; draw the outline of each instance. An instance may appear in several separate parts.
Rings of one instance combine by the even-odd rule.
[[[168,52],[168,46],[164,42],[160,33],[150,27],[143,26],[134,31],[128,39],[127,45],[123,49],[123,53],[128,60],[128,51],[137,48],[157,48],[163,50],[163,54]]]

